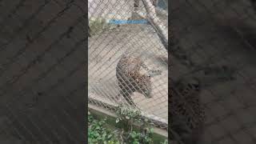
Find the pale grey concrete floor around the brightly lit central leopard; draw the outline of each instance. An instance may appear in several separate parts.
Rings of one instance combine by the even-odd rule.
[[[146,54],[145,63],[162,74],[151,78],[153,98],[135,93],[137,106],[155,119],[168,122],[168,69],[163,58],[167,52],[151,26],[121,26],[89,39],[89,97],[115,105],[111,97],[119,94],[115,68],[118,58],[126,50],[140,50]]]

